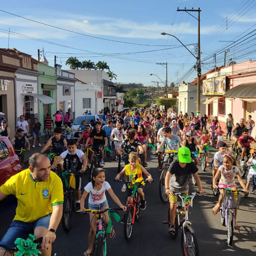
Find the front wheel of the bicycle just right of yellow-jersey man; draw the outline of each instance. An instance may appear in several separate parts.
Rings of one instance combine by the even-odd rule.
[[[72,208],[73,208],[72,193],[68,192],[64,195],[63,200],[63,214],[61,218],[61,224],[65,231],[69,231],[72,221]]]

